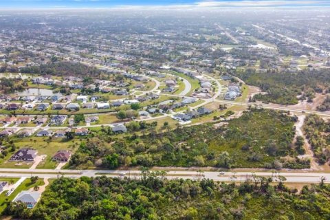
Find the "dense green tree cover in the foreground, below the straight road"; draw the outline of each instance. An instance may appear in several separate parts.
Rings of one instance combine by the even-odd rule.
[[[281,178],[280,178],[281,179]],[[330,219],[330,186],[300,193],[280,181],[253,177],[236,186],[208,179],[168,180],[144,173],[141,180],[108,177],[56,179],[33,210],[11,203],[23,219]]]

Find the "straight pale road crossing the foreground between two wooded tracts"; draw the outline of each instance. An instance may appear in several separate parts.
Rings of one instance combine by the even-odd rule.
[[[7,173],[8,172],[8,173]],[[9,173],[12,172],[12,173]],[[38,172],[38,173],[34,173]],[[62,170],[65,177],[69,178],[79,178],[82,176],[96,177],[100,175],[109,175],[111,177],[122,176],[120,174],[124,173],[126,177],[136,177],[139,178],[141,175],[140,170]],[[58,170],[46,170],[46,169],[10,169],[1,168],[0,177],[31,177],[32,175],[37,175],[40,178],[57,178],[62,174]],[[206,171],[199,173],[198,171],[185,171],[170,170],[166,173],[168,179],[213,179],[214,181],[245,181],[246,179],[252,179],[254,176],[257,177],[271,177],[273,181],[279,181],[279,176],[285,177],[285,182],[287,183],[319,183],[322,177],[325,177],[325,182],[330,183],[330,173],[308,173],[300,171],[299,173],[272,173],[272,172],[213,172]]]

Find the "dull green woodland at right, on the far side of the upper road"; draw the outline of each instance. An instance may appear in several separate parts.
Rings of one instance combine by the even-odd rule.
[[[297,104],[298,98],[312,102],[315,93],[329,91],[330,70],[304,70],[297,73],[255,72],[252,69],[236,71],[233,75],[241,78],[248,85],[260,87],[267,94],[254,96],[255,100],[278,104]]]

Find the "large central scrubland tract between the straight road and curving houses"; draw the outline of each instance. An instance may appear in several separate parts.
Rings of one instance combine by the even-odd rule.
[[[254,109],[245,111],[241,118],[230,120],[225,126],[211,123],[177,126],[174,131],[163,133],[156,133],[155,126],[131,122],[128,126],[131,133],[143,126],[142,135],[114,137],[111,129],[103,128],[80,144],[69,163],[104,168],[115,168],[112,164],[306,168],[309,161],[295,157],[300,146],[292,144],[295,120],[285,113]],[[288,155],[292,157],[286,157]]]

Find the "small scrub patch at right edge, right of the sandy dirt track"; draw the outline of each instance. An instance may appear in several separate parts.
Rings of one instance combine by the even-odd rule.
[[[320,164],[330,160],[330,121],[325,122],[318,115],[305,118],[304,131]]]

